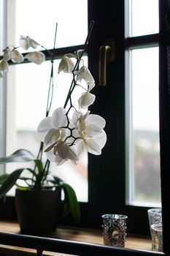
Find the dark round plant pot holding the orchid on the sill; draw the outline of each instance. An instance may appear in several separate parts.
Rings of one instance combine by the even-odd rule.
[[[55,190],[16,189],[15,206],[21,233],[53,232],[61,212],[61,187]]]

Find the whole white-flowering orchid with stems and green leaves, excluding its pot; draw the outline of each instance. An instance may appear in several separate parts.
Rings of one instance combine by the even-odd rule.
[[[64,183],[61,178],[50,175],[50,162],[55,162],[56,165],[62,165],[63,162],[70,160],[77,165],[83,151],[99,155],[107,141],[107,135],[104,132],[104,118],[96,114],[91,114],[88,110],[88,107],[93,104],[96,98],[90,92],[95,86],[95,81],[88,67],[84,65],[82,54],[88,44],[92,27],[91,25],[84,48],[77,50],[75,53],[66,54],[61,59],[58,74],[61,72],[71,73],[72,82],[65,105],[56,108],[51,116],[49,113],[53,96],[49,98],[50,93],[48,94],[46,115],[37,127],[37,136],[41,141],[37,157],[34,157],[26,149],[19,149],[10,156],[0,158],[0,163],[34,161],[34,169],[24,167],[13,171],[9,175],[0,176],[0,197],[4,197],[14,185],[20,189],[49,189],[60,185],[65,194],[63,216],[71,212],[76,222],[80,219],[80,208],[74,189],[69,184]],[[25,50],[28,50],[30,47],[36,49],[38,45],[39,43],[30,37],[20,37],[20,47]],[[50,54],[52,56],[52,72],[49,91],[52,91],[51,95],[53,95],[53,53]],[[75,59],[75,63],[71,58]],[[34,51],[23,56],[18,48],[13,46],[7,47],[0,61],[1,77],[3,76],[3,72],[8,71],[8,61],[20,63],[24,59],[28,59],[28,61],[32,61],[35,64],[42,64],[45,61],[45,54],[41,51]],[[84,85],[82,86],[82,81],[84,81],[86,87]],[[72,93],[76,86],[81,86],[84,90],[79,99],[77,99],[78,108],[72,103]],[[72,118],[70,117],[71,111],[73,112]],[[42,163],[43,152],[47,155],[47,161],[44,165]],[[31,178],[21,176],[23,170],[28,170],[31,173]],[[18,179],[25,181],[26,187],[21,187],[17,183]]]

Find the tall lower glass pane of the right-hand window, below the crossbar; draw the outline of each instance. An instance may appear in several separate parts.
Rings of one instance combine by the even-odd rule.
[[[161,203],[158,48],[132,50],[131,63],[131,203]]]

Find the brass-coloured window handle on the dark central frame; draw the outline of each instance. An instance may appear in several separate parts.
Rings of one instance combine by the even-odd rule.
[[[107,40],[99,49],[99,85],[107,86],[107,62],[115,59],[115,42]]]

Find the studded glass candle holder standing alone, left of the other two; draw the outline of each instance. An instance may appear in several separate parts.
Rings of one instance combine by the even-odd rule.
[[[128,217],[123,214],[102,215],[104,245],[125,246],[127,218]]]

